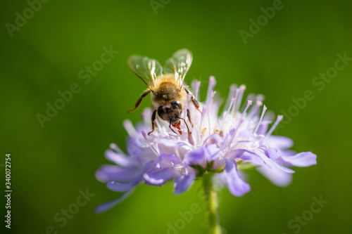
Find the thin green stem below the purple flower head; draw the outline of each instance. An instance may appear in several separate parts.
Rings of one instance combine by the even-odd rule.
[[[213,174],[203,175],[208,234],[221,234],[220,217],[218,214],[218,195],[213,188],[213,182],[211,181],[212,176]]]

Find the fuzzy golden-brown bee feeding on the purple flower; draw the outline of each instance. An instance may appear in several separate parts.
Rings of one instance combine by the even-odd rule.
[[[139,97],[134,108],[127,112],[137,110],[143,98],[151,93],[151,105],[153,108],[153,114],[151,115],[152,129],[148,135],[155,129],[157,114],[161,119],[169,123],[169,128],[175,134],[176,132],[171,128],[171,125],[182,134],[180,129],[181,120],[186,124],[188,133],[191,133],[186,120],[181,117],[181,114],[184,109],[184,103],[187,103],[189,94],[191,94],[191,102],[194,107],[199,110],[199,103],[193,93],[191,93],[187,86],[183,85],[184,77],[189,67],[191,67],[192,59],[191,51],[186,48],[176,51],[171,58],[166,60],[164,67],[161,66],[158,60],[144,56],[131,56],[128,59],[128,65],[131,70],[137,77],[142,79],[146,86],[148,86],[148,89]],[[201,111],[199,110],[199,112]],[[193,126],[189,109],[187,109],[187,117]]]

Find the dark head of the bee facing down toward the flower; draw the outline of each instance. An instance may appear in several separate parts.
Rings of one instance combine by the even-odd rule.
[[[179,101],[174,100],[166,105],[161,105],[158,108],[158,115],[171,124],[180,122],[182,113],[182,105]]]

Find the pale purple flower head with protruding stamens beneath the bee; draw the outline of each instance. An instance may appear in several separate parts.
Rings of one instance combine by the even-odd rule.
[[[156,131],[148,136],[151,129],[151,109],[144,110],[143,124],[134,126],[125,121],[129,134],[127,155],[116,145],[106,151],[106,158],[114,165],[104,165],[96,171],[96,178],[106,183],[110,190],[122,192],[117,200],[101,204],[96,212],[122,201],[139,183],[163,186],[174,181],[175,194],[184,193],[204,173],[213,173],[215,183],[225,183],[230,193],[242,196],[251,190],[241,171],[256,168],[277,186],[287,186],[294,171],[289,167],[309,167],[316,164],[312,152],[296,153],[289,150],[293,145],[290,138],[272,136],[282,120],[279,115],[273,122],[273,115],[266,112],[262,95],[250,94],[246,105],[241,101],[246,87],[230,87],[224,111],[219,113],[220,98],[213,88],[215,78],[210,77],[207,98],[200,103],[202,114],[188,101],[182,116],[187,119],[187,108],[191,112],[194,127],[187,134],[187,126],[181,122],[180,134],[171,131],[169,124],[156,119]],[[198,96],[200,82],[192,88]],[[273,124],[270,126],[270,124]],[[188,126],[191,126],[189,123]]]

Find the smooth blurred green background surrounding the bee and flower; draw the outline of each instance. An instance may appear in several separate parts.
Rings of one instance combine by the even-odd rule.
[[[164,63],[180,48],[194,54],[186,81],[201,79],[201,100],[210,75],[216,77],[215,90],[224,98],[233,83],[246,84],[246,94],[263,93],[265,105],[275,115],[288,112],[292,98],[302,98],[307,90],[315,97],[307,100],[305,108],[291,108],[298,114],[278,134],[293,138],[298,152],[315,152],[318,165],[296,168],[287,188],[251,171],[252,190],[244,197],[222,190],[220,216],[227,233],[294,233],[298,228],[289,228],[289,221],[310,210],[312,197],[320,195],[329,203],[298,232],[351,233],[352,157],[347,146],[351,145],[352,61],[333,79],[318,78],[318,86],[312,82],[320,73],[334,71],[330,67],[337,53],[352,57],[352,4],[282,1],[268,22],[259,17],[260,31],[245,44],[239,31],[258,30],[250,29],[249,20],[256,22],[263,15],[261,8],[273,3],[63,0],[42,3],[40,9],[34,4],[38,11],[31,15],[27,1],[1,1],[0,174],[4,176],[5,154],[10,152],[10,233],[172,233],[168,223],[175,226],[179,212],[201,204],[196,195],[199,183],[178,196],[172,194],[170,184],[141,185],[118,206],[94,214],[98,204],[118,197],[94,177],[96,169],[108,163],[103,152],[110,143],[124,149],[127,134],[122,121],[139,122],[143,108],[150,105],[146,100],[127,115],[146,88],[130,71],[127,58],[137,53]],[[18,19],[22,26],[15,28],[15,13],[23,15],[23,11],[27,22]],[[90,80],[80,79],[81,70],[101,59],[104,46],[119,53]],[[54,105],[58,91],[67,91],[74,83],[80,91],[42,127],[37,114],[46,115],[46,103]],[[54,221],[54,216],[86,189],[94,197],[61,227],[63,221]],[[204,233],[203,223],[202,211],[173,233]]]

